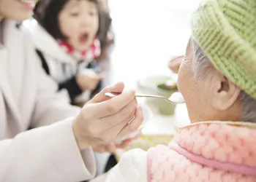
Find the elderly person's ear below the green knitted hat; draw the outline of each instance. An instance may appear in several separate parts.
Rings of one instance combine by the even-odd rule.
[[[211,78],[211,105],[219,111],[238,106],[241,89],[230,82],[226,76],[220,74],[219,71],[215,71],[217,73],[213,74]]]

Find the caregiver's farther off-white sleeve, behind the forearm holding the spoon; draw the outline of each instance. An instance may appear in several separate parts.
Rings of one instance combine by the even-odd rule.
[[[70,116],[77,116],[80,108],[69,104],[67,90],[58,92],[58,85],[42,69],[37,56],[33,63],[37,70],[37,102],[31,118],[31,127],[41,127],[53,124]]]

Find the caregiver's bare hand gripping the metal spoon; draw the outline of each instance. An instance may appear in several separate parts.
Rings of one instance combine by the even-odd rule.
[[[105,92],[122,92],[108,99]],[[75,138],[80,150],[99,143],[108,143],[138,130],[143,122],[143,113],[138,108],[134,90],[124,90],[118,83],[106,87],[89,103],[72,123]],[[129,123],[129,124],[128,124]]]

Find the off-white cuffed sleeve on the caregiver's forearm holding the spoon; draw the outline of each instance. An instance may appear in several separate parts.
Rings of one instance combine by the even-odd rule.
[[[0,181],[69,182],[94,178],[94,152],[79,151],[72,118],[0,141]]]

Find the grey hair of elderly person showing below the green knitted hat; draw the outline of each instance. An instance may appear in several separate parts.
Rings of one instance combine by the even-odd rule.
[[[206,54],[201,50],[197,41],[193,38],[190,39],[190,49],[195,77],[197,79],[204,79],[211,71],[214,70],[214,66],[208,60]],[[244,122],[256,122],[256,100],[248,95],[244,90],[241,90],[239,95],[242,104],[242,116],[241,119]]]

